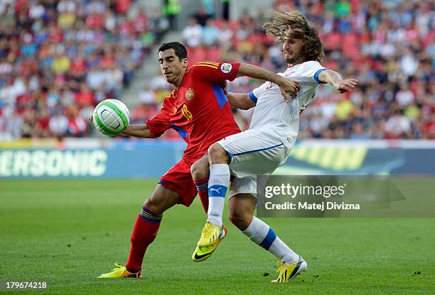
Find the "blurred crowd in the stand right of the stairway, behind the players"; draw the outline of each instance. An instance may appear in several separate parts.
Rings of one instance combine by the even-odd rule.
[[[325,46],[325,67],[358,79],[358,88],[339,94],[321,85],[301,113],[300,138],[435,139],[435,13],[433,1],[300,0],[276,1],[275,9],[299,10],[313,23]],[[189,19],[182,37],[189,62],[248,62],[284,72],[281,48],[262,30],[267,11],[242,13],[237,20],[210,17],[204,9]],[[160,73],[134,118],[153,116],[171,91]],[[238,78],[229,90],[258,85]],[[234,110],[242,130],[252,110]],[[176,138],[176,133],[168,133]]]

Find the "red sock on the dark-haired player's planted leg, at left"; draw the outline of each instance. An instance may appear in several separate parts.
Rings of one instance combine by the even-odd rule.
[[[155,215],[142,207],[142,211],[134,223],[133,233],[131,233],[129,260],[125,265],[129,272],[139,272],[142,269],[146,248],[156,239],[160,221],[161,215]]]

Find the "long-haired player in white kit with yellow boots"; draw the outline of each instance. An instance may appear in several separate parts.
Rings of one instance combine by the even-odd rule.
[[[208,180],[208,219],[193,260],[210,257],[220,240],[225,194],[230,191],[230,220],[257,245],[275,255],[281,266],[279,277],[272,282],[288,282],[306,269],[306,262],[281,239],[267,223],[254,216],[257,204],[257,175],[272,174],[284,165],[299,133],[299,113],[314,99],[319,83],[331,84],[341,93],[351,91],[355,79],[342,79],[320,62],[323,45],[318,32],[299,11],[272,13],[272,23],[264,28],[281,40],[284,60],[289,67],[281,76],[299,82],[294,99],[284,100],[276,84],[266,82],[249,94],[227,93],[232,106],[254,108],[249,130],[228,136],[210,146]],[[262,184],[259,184],[262,185]]]

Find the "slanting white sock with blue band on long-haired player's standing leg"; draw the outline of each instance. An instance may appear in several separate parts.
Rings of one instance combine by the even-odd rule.
[[[264,221],[255,216],[243,233],[245,233],[252,242],[264,247],[264,249],[271,252],[282,262],[290,264],[299,260],[299,255],[293,252],[289,246],[278,238],[274,230],[272,230],[267,223],[264,223]]]

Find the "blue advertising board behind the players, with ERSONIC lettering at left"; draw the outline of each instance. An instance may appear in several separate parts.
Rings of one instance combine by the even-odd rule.
[[[18,147],[0,150],[1,178],[160,177],[183,156],[186,144],[113,140],[110,144]],[[90,147],[92,146],[92,147]],[[435,144],[302,141],[277,174],[435,174]]]

